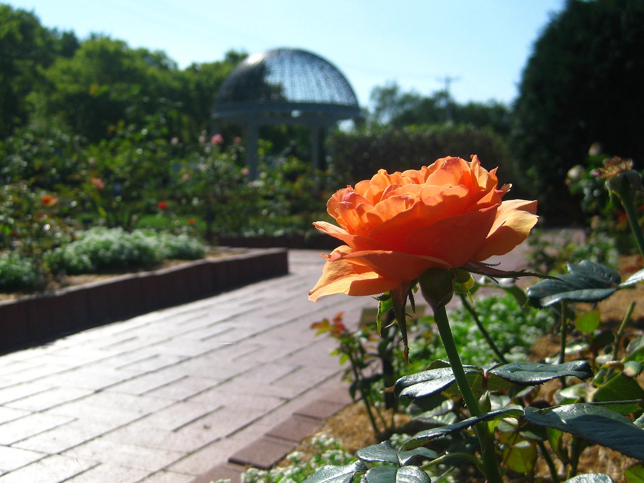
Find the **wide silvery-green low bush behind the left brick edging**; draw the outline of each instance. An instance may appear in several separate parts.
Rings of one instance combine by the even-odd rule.
[[[52,271],[69,274],[96,272],[124,267],[146,267],[166,258],[195,259],[205,248],[187,235],[156,234],[120,228],[94,228],[82,232],[79,240],[46,256]]]

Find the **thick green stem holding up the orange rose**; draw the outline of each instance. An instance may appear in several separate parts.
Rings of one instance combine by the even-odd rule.
[[[459,384],[460,393],[463,396],[469,414],[472,416],[480,416],[482,412],[478,406],[476,396],[469,387],[468,378],[465,375],[463,365],[460,361],[459,350],[456,348],[454,337],[451,334],[450,320],[448,319],[444,305],[436,308],[434,311],[434,321],[439,328],[440,339],[442,339],[447,358],[450,361],[451,370],[456,378],[456,383]],[[486,468],[485,477],[489,483],[502,483],[503,480],[498,472],[493,435],[489,431],[488,423],[480,422],[476,424],[475,431],[477,432],[478,442],[481,447],[483,465]]]

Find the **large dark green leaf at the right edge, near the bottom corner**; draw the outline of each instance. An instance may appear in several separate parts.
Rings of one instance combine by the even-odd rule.
[[[598,404],[566,404],[542,410],[526,410],[525,419],[572,433],[594,443],[644,460],[644,430],[629,419]]]

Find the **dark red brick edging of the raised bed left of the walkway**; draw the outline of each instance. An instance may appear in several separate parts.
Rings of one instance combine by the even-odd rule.
[[[0,354],[288,273],[286,249],[245,249],[0,301]]]

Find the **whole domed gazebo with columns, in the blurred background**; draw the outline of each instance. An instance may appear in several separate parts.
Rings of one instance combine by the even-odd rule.
[[[307,126],[312,166],[319,169],[323,132],[339,120],[359,122],[362,116],[354,90],[336,66],[306,50],[278,48],[247,57],[226,77],[212,118],[215,132],[222,122],[243,126],[249,176],[255,179],[260,126]]]

